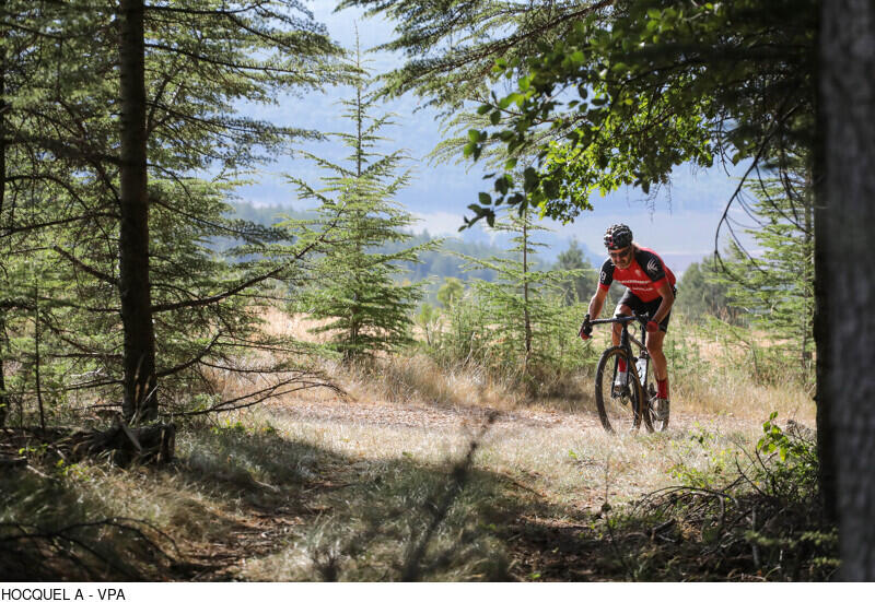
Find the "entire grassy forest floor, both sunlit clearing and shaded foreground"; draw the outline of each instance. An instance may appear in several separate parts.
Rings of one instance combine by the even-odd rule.
[[[417,354],[375,370],[336,366],[345,394],[289,393],[180,424],[177,458],[164,467],[40,464],[37,451],[30,472],[0,467],[0,487],[16,492],[3,520],[20,520],[24,533],[0,538],[0,567],[18,563],[0,577],[820,578],[810,563],[789,563],[779,536],[816,526],[795,517],[782,527],[774,517],[786,508],[766,514],[769,496],[748,501],[762,475],[748,469],[761,460],[763,421],[778,411],[782,424],[814,428],[808,392],[686,374],[658,434],[606,434],[585,376],[533,401]],[[223,394],[255,387],[215,385]],[[726,487],[746,474],[759,476]],[[777,535],[749,536],[766,520],[757,523],[758,511]],[[25,540],[43,543],[10,547]],[[71,553],[75,545],[88,553]],[[36,566],[43,573],[26,573]]]

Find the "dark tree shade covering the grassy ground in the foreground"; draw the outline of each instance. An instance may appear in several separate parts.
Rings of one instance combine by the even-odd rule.
[[[18,554],[42,568],[16,574],[27,564],[18,563],[0,573],[56,580],[588,581],[826,579],[835,570],[832,535],[802,505],[778,507],[768,496],[678,488],[596,514],[552,504],[472,468],[491,422],[466,453],[441,465],[348,457],[269,427],[188,433],[179,460],[136,474],[147,481],[139,491],[163,505],[162,529],[175,546],[156,532],[144,541],[143,532],[106,524],[85,538],[69,528],[70,518],[106,518],[100,500],[59,475],[7,472],[3,491],[31,495],[4,494],[4,520],[33,511],[30,533],[55,539],[4,527],[0,559]],[[751,511],[780,520],[763,530]],[[79,547],[67,535],[79,538]],[[98,555],[119,558],[100,575],[90,568],[93,541],[103,542]]]

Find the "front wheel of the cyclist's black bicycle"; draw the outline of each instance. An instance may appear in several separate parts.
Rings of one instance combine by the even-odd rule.
[[[627,381],[615,387],[619,359],[626,361]],[[595,371],[595,405],[602,426],[608,433],[641,427],[644,396],[634,375],[634,358],[629,357],[627,351],[620,346],[605,350],[598,361]]]

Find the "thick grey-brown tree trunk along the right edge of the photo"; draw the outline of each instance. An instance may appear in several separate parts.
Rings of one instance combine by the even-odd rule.
[[[875,2],[820,3],[818,444],[841,578],[875,580]],[[835,469],[835,481],[831,474]]]

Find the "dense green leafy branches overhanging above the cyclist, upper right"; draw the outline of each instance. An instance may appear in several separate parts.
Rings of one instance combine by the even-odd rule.
[[[564,221],[593,191],[650,193],[682,163],[751,158],[752,169],[810,144],[816,7],[637,0],[607,23],[590,15],[526,61],[497,61],[517,88],[480,107],[505,118],[471,131],[464,154],[501,143],[537,155],[522,178],[504,167],[492,201]],[[475,206],[469,223],[493,219],[490,203]]]

